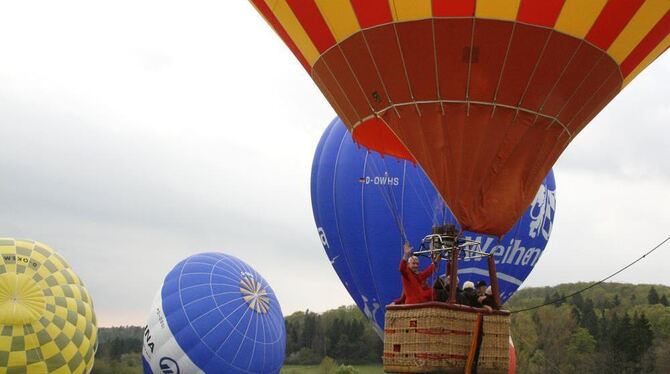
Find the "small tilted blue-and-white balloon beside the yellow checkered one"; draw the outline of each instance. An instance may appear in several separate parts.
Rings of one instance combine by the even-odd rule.
[[[183,260],[165,277],[144,330],[145,373],[279,373],[284,317],[270,285],[222,253]]]

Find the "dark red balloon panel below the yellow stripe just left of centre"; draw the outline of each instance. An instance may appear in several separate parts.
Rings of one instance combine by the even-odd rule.
[[[414,99],[437,99],[433,22],[421,20],[398,23],[396,30]]]

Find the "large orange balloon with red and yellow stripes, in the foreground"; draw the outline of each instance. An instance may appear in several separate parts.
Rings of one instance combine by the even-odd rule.
[[[354,139],[504,234],[570,141],[670,46],[667,0],[251,0]]]

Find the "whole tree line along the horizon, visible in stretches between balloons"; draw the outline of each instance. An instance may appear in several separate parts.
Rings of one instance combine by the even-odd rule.
[[[515,313],[519,373],[670,373],[670,287],[586,283],[525,288],[504,306]],[[286,364],[381,364],[383,342],[355,306],[285,317]],[[94,374],[141,373],[143,330],[99,329]]]

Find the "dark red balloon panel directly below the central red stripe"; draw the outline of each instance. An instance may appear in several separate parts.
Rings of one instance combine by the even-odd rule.
[[[472,37],[472,19],[436,19],[435,51],[437,52],[440,97],[465,100],[468,61],[463,59]]]

